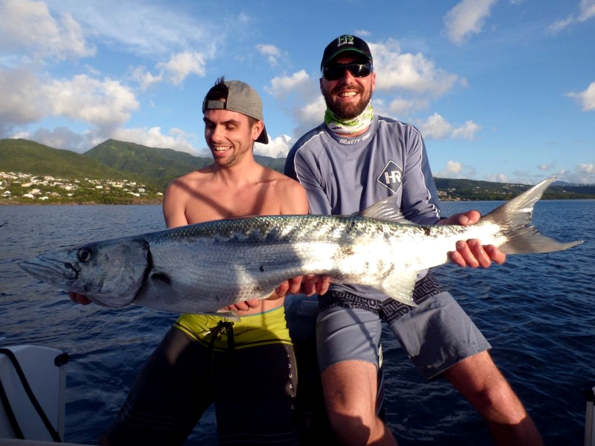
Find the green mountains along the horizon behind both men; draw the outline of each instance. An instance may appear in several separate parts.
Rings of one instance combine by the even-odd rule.
[[[283,172],[285,160],[255,156],[256,161]],[[172,149],[159,149],[108,139],[80,154],[70,150],[24,140],[0,140],[0,171],[62,178],[129,180],[162,191],[176,177],[211,164],[212,158],[201,158]],[[434,178],[443,200],[508,200],[529,186],[464,179]],[[593,199],[595,185],[553,183],[546,199]]]

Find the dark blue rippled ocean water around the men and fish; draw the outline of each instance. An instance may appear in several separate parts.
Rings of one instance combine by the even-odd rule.
[[[444,203],[444,213],[500,203]],[[583,392],[595,385],[595,200],[541,201],[534,224],[585,243],[566,252],[509,256],[489,269],[436,269],[493,346],[494,360],[548,445],[580,445]],[[176,315],[71,303],[17,262],[44,251],[164,228],[159,206],[0,206],[0,346],[37,344],[70,355],[65,441],[93,444]],[[489,445],[486,425],[444,380],[418,375],[383,334],[386,420],[401,445]],[[188,445],[215,445],[212,411]]]

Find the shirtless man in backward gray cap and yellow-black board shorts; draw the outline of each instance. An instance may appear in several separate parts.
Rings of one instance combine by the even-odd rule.
[[[261,99],[252,87],[220,78],[202,110],[214,163],[167,187],[163,213],[168,228],[248,215],[308,213],[303,187],[253,158],[253,143],[266,144],[268,137]],[[102,444],[181,445],[211,403],[220,444],[299,442],[296,362],[283,297],[324,293],[326,288],[327,279],[308,277],[303,284],[302,278],[290,279],[270,300],[226,307],[237,312],[239,322],[181,315],[135,379]],[[74,293],[71,299],[86,303]],[[242,381],[245,385],[238,386]]]

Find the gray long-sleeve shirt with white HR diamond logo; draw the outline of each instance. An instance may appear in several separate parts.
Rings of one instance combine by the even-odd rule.
[[[411,124],[375,115],[368,131],[355,138],[341,137],[321,124],[293,145],[285,174],[305,187],[312,214],[351,215],[396,194],[406,219],[430,225],[440,219],[424,140]],[[371,287],[331,287],[386,298]]]

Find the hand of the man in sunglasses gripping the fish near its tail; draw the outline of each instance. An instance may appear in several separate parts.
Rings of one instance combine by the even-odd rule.
[[[480,218],[481,213],[473,209],[451,215],[449,218],[440,220],[437,224],[469,226],[477,223]],[[502,265],[506,261],[505,253],[497,249],[494,245],[482,245],[477,238],[456,242],[456,250],[450,251],[449,257],[452,262],[463,268],[465,266],[469,266],[470,268],[478,268],[479,266],[487,268],[491,265],[491,262]]]

